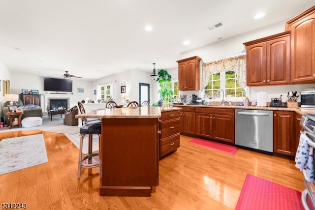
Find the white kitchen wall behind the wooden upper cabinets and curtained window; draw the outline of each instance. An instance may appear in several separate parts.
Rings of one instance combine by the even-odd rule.
[[[180,58],[189,58],[192,56],[199,56],[202,58],[203,62],[208,62],[211,60],[223,59],[231,56],[236,56],[242,53],[246,53],[246,49],[243,45],[244,42],[252,41],[258,38],[274,35],[280,32],[284,32],[285,22],[280,22],[275,25],[261,28],[259,30],[250,31],[239,36],[235,36],[220,42],[210,44],[204,47],[200,47],[188,52],[181,53]],[[201,71],[200,71],[201,78]],[[249,88],[249,98],[250,100],[256,100],[256,93],[259,91],[267,92],[267,101],[271,101],[272,97],[280,97],[283,95],[283,101],[286,101],[287,92],[290,90],[300,91],[305,90],[308,87],[314,87],[315,84],[309,85],[286,85],[286,86],[268,86],[268,87],[254,87]],[[200,91],[180,91],[180,94],[187,94],[191,96],[192,93],[197,93],[200,95]]]

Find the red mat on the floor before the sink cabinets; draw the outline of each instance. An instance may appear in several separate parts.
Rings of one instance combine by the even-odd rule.
[[[208,148],[211,150],[221,151],[221,152],[232,154],[232,155],[234,155],[238,150],[238,148],[234,146],[225,145],[225,144],[212,142],[212,141],[204,140],[204,139],[198,139],[198,138],[195,138],[189,141],[188,143],[193,144],[193,145],[198,145],[204,148]]]

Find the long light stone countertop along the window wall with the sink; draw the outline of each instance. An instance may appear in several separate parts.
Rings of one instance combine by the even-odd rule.
[[[223,108],[223,109],[256,109],[256,110],[273,110],[273,111],[292,111],[300,115],[315,114],[315,108],[286,108],[286,107],[258,107],[258,106],[235,106],[235,105],[174,105],[176,107],[208,107],[208,108]]]

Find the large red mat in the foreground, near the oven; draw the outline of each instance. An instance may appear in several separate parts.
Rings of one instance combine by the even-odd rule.
[[[303,210],[301,192],[246,175],[236,210]]]

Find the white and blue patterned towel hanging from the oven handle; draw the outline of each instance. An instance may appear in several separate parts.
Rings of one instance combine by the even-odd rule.
[[[296,162],[295,166],[296,168],[300,170],[303,170],[304,166],[306,165],[307,159],[309,157],[310,146],[307,144],[307,140],[309,140],[309,137],[307,137],[306,134],[301,133],[299,146],[295,154],[295,162]]]

